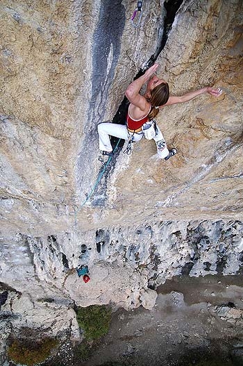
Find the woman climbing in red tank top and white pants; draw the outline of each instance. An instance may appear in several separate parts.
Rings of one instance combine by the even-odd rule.
[[[112,124],[111,122],[103,122],[98,125],[99,148],[103,155],[112,156],[109,135],[128,140],[127,150],[131,150],[131,142],[137,142],[144,136],[146,137],[146,128],[149,128],[150,137],[147,138],[149,140],[153,138],[156,142],[158,157],[168,160],[177,151],[176,149],[167,149],[167,144],[160,128],[156,126],[154,118],[158,115],[159,110],[165,106],[190,101],[194,97],[206,92],[214,97],[219,97],[222,92],[220,88],[206,87],[193,92],[187,92],[181,97],[169,96],[169,85],[155,74],[158,66],[158,63],[155,63],[146,70],[144,75],[128,85],[126,97],[130,101],[130,105],[128,107],[126,126]],[[147,83],[146,92],[142,95],[140,90],[145,83]]]

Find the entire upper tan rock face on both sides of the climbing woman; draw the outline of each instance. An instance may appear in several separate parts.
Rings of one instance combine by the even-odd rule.
[[[74,211],[81,230],[155,216],[241,216],[237,0],[184,1],[158,57],[172,94],[205,85],[224,90],[218,99],[203,94],[160,111],[158,124],[178,155],[167,163],[153,159],[153,141],[135,144],[130,157],[120,152],[81,207],[103,169],[97,124],[114,117],[126,86],[161,43],[163,2],[144,3],[138,28],[130,22],[135,6],[120,0],[62,6],[1,1],[5,232],[72,231]]]

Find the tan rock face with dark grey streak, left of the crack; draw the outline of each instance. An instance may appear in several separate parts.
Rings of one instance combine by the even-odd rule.
[[[160,42],[160,3],[152,10],[144,4],[137,31],[130,22],[134,6],[1,1],[6,231],[71,229],[74,203],[83,201],[99,172],[97,124],[112,119],[127,80]],[[86,217],[82,212],[85,226]]]

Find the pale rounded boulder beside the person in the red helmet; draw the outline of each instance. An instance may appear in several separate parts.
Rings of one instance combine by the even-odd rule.
[[[78,306],[103,305],[108,299],[126,309],[136,308],[140,303],[140,292],[144,294],[148,280],[145,275],[135,272],[131,265],[122,261],[94,261],[90,266],[90,281],[84,283],[77,274],[71,274],[65,281],[65,289]],[[151,290],[156,296],[156,292]],[[152,301],[153,304],[155,301]],[[143,303],[143,301],[142,301]],[[153,306],[149,306],[148,308]]]

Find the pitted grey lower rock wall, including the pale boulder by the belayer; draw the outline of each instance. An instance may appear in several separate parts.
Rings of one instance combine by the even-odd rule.
[[[1,278],[36,301],[55,289],[78,306],[112,301],[133,308],[141,290],[178,274],[242,272],[242,222],[156,222],[1,240]],[[76,273],[81,264],[90,268],[89,283]]]

